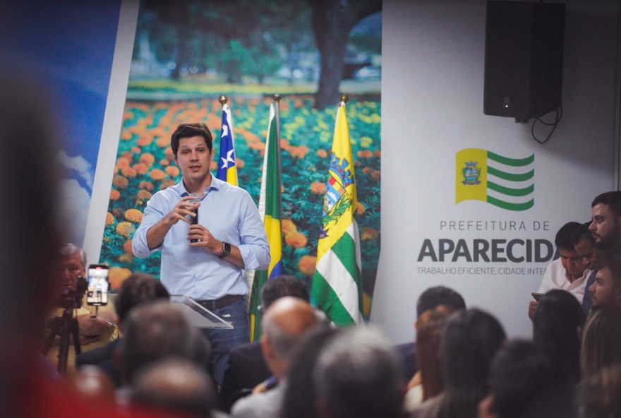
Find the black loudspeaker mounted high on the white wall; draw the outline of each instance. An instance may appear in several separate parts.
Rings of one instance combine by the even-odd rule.
[[[531,119],[561,104],[565,4],[488,1],[483,113]]]

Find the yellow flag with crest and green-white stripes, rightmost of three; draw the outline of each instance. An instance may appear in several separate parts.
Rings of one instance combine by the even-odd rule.
[[[337,326],[363,321],[356,177],[345,103],[337,110],[313,275],[313,300]]]

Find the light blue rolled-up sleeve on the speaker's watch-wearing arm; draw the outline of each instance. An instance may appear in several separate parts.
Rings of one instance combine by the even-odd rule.
[[[240,208],[238,248],[244,270],[267,270],[270,265],[270,244],[267,243],[265,226],[250,195],[246,194]]]

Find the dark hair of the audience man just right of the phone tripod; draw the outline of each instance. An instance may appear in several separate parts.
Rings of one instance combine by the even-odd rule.
[[[145,301],[168,299],[169,296],[166,287],[155,277],[144,273],[134,273],[123,282],[114,299],[114,310],[119,316],[119,323],[123,322],[134,306]]]

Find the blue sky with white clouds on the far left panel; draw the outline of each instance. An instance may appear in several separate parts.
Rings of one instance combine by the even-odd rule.
[[[92,193],[121,0],[8,1],[0,7],[0,45],[49,89],[63,139],[58,158],[68,239],[81,244]]]

